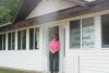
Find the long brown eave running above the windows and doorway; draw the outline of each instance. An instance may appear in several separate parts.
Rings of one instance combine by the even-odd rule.
[[[80,15],[84,15],[84,14],[90,14],[90,13],[95,13],[95,12],[106,11],[106,10],[109,10],[109,0],[96,0],[96,2],[87,3],[87,7],[88,8],[84,8],[82,5],[81,7],[76,5],[73,8],[58,11],[58,16],[55,20],[51,20],[50,17],[53,16],[57,12],[45,14],[41,16],[36,16],[36,17],[28,19],[25,21],[22,20],[22,22],[15,23],[13,25],[1,27],[0,32],[19,29],[19,28],[23,28],[23,27],[27,27],[27,26],[33,26],[36,24],[38,25],[38,24],[44,24],[44,23],[48,23],[48,22],[52,22],[52,21],[64,20],[64,19],[75,17],[75,16],[80,16]],[[29,23],[29,24],[27,24],[27,23]]]

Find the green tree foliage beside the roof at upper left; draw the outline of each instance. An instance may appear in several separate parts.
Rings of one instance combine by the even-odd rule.
[[[20,0],[0,0],[0,24],[12,22]]]

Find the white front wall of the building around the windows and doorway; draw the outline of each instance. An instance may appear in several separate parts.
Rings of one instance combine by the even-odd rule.
[[[85,14],[81,16],[64,19],[51,23],[41,25],[33,25],[25,27],[27,36],[28,29],[33,27],[40,28],[40,48],[38,50],[28,50],[28,37],[27,50],[17,51],[17,41],[15,41],[15,50],[2,50],[0,51],[0,66],[15,68],[22,70],[38,70],[47,71],[47,48],[46,44],[46,29],[50,26],[65,25],[65,58],[64,58],[64,70],[65,73],[105,73],[109,72],[109,48],[101,48],[101,15],[109,14],[109,10],[100,11],[96,13]],[[70,48],[70,21],[82,20],[87,17],[94,17],[95,27],[95,48]],[[20,29],[13,29],[17,33]],[[8,32],[5,32],[8,33]],[[3,34],[3,33],[1,33]],[[7,41],[8,46],[8,41]],[[8,47],[7,47],[8,49]]]

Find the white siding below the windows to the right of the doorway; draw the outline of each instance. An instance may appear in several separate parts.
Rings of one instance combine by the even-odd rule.
[[[70,50],[65,73],[109,73],[109,50]]]

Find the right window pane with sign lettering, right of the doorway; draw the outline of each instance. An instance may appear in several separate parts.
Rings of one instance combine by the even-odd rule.
[[[94,17],[82,20],[82,47],[94,48]]]

